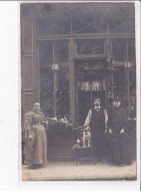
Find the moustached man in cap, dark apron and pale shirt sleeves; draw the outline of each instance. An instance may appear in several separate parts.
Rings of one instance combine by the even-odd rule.
[[[85,124],[91,128],[91,144],[94,146],[95,158],[100,161],[104,157],[105,132],[108,115],[101,106],[98,97],[94,98],[93,107],[89,110]]]

